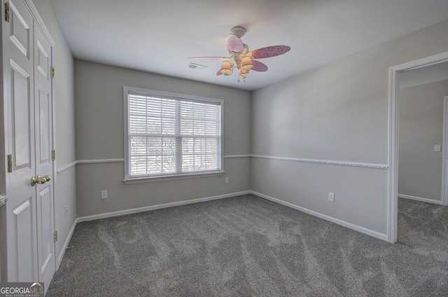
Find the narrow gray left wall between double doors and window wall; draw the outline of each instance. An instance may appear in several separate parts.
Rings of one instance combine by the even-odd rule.
[[[75,153],[75,98],[74,60],[55,13],[48,0],[33,1],[45,27],[55,41],[55,120],[56,166],[62,167],[76,160]],[[66,237],[76,220],[76,167],[71,167],[55,177],[56,230],[59,256]],[[64,206],[68,213],[64,214]]]

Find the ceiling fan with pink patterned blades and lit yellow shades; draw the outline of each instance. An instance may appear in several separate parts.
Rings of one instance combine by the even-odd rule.
[[[230,29],[230,33],[225,37],[225,43],[229,51],[228,57],[189,57],[189,60],[223,60],[221,69],[216,72],[219,76],[229,76],[235,69],[238,70],[238,82],[239,77],[246,81],[246,77],[249,71],[267,71],[267,66],[262,62],[258,62],[257,59],[266,57],[275,57],[288,53],[291,49],[289,46],[267,46],[266,48],[258,48],[258,50],[252,50],[249,52],[249,48],[246,43],[241,41],[241,37],[246,34],[246,29],[242,27],[233,27]]]

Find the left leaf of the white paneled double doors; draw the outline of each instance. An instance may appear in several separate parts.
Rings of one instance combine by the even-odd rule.
[[[38,278],[36,236],[36,173],[34,150],[34,21],[23,1],[9,2],[9,22],[3,21],[3,76],[6,92],[8,208],[6,209],[8,282]]]

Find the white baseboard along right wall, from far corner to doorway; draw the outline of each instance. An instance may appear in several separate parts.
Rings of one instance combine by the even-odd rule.
[[[300,212],[305,212],[307,214],[311,214],[312,216],[317,216],[318,218],[330,221],[332,223],[337,223],[340,226],[344,226],[346,228],[350,228],[352,230],[356,230],[356,231],[358,231],[360,233],[364,233],[366,235],[370,235],[370,236],[379,238],[380,240],[386,240],[387,241],[387,235],[386,234],[379,233],[377,231],[370,230],[370,229],[367,229],[367,228],[364,228],[364,227],[361,227],[361,226],[358,226],[358,225],[354,225],[354,224],[348,223],[346,221],[335,219],[332,216],[327,216],[327,215],[321,214],[319,212],[314,212],[313,210],[310,210],[310,209],[307,209],[307,208],[304,208],[304,207],[300,207],[300,206],[297,206],[297,205],[293,205],[290,202],[279,200],[279,199],[276,199],[276,198],[273,198],[273,197],[270,197],[268,195],[264,195],[264,194],[261,194],[261,193],[255,192],[255,191],[251,191],[251,193],[253,195],[259,196],[260,198],[265,198],[265,199],[270,200],[272,202],[276,202],[276,203],[279,203],[281,205],[285,205],[287,207],[291,207],[293,209],[300,210]]]

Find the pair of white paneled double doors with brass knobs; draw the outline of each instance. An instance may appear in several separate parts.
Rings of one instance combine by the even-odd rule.
[[[9,0],[3,20],[3,78],[8,155],[6,175],[7,281],[45,282],[55,272],[52,240],[53,185],[31,177],[52,176],[51,47],[24,0]]]

